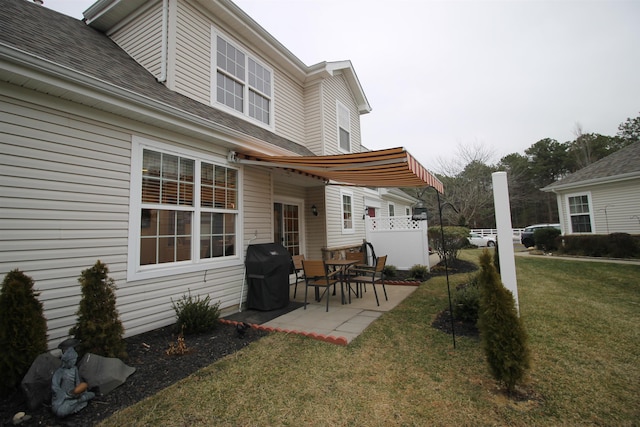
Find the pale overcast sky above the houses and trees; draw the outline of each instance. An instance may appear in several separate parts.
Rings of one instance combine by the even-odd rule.
[[[45,0],[82,18],[93,0]],[[640,1],[235,0],[305,64],[351,60],[362,143],[438,172],[640,116]]]

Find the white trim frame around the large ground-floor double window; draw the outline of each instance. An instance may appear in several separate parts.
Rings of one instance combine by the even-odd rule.
[[[231,267],[242,265],[242,251],[244,250],[244,236],[243,236],[243,214],[242,214],[242,173],[241,169],[237,169],[236,166],[230,165],[222,157],[214,157],[205,155],[200,152],[185,149],[180,147],[178,150],[176,147],[164,144],[161,142],[153,141],[150,139],[142,138],[134,135],[132,137],[132,149],[131,149],[131,179],[130,179],[130,191],[129,191],[129,238],[127,244],[127,281],[152,279],[156,277],[163,277],[174,274],[191,273],[203,270],[209,270],[212,268]],[[200,221],[198,218],[193,218],[192,221],[192,240],[193,245],[191,247],[191,260],[180,261],[166,264],[154,264],[148,266],[140,266],[140,210],[142,208],[142,153],[147,148],[154,151],[162,151],[168,154],[173,154],[180,157],[189,157],[196,160],[196,163],[208,162],[217,165],[223,165],[230,169],[236,169],[238,171],[238,212],[236,217],[236,254],[233,256],[224,257],[223,259],[207,258],[200,259]],[[194,182],[200,182],[200,167],[197,166],[194,175]],[[194,203],[199,205],[200,196],[199,193],[194,197]]]

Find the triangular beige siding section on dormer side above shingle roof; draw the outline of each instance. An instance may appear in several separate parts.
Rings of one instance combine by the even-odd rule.
[[[162,2],[132,19],[109,37],[156,78],[162,68]]]

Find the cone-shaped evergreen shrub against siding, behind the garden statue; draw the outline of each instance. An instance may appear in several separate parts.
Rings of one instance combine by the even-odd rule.
[[[79,354],[95,353],[126,359],[124,328],[116,309],[116,286],[109,269],[100,261],[84,270],[78,279],[82,287],[78,321],[69,333],[80,340]]]

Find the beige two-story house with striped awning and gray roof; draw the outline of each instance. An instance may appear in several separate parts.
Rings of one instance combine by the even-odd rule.
[[[187,292],[237,308],[249,243],[320,258],[362,242],[364,213],[408,212],[377,189],[442,191],[404,149],[363,147],[350,61],[303,64],[229,0],[0,9],[0,273],[34,279],[50,346],[98,259],[135,335]]]

